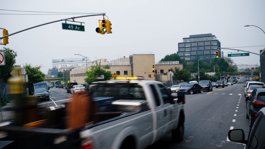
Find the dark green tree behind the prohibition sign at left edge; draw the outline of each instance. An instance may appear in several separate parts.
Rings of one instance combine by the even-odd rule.
[[[7,82],[7,79],[11,76],[10,72],[15,67],[17,54],[10,48],[5,47],[0,49],[0,51],[4,51],[5,54],[5,65],[0,66],[0,78],[3,78],[3,82]]]

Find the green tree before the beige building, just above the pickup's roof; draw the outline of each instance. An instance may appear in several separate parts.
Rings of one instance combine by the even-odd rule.
[[[107,72],[106,69],[110,69],[109,65],[101,66],[101,63],[96,63],[96,66],[91,66],[90,70],[87,71],[87,77],[84,79],[87,83],[97,81],[97,77],[104,74],[103,80],[110,80],[112,77],[111,72]]]

